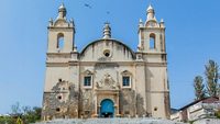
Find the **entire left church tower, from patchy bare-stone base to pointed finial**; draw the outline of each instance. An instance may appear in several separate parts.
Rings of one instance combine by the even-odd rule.
[[[78,53],[74,21],[67,21],[66,8],[58,8],[50,20],[42,120],[78,117]],[[73,75],[75,74],[75,75]]]

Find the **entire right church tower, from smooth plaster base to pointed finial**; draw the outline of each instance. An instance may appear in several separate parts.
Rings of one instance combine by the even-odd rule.
[[[140,20],[139,22],[136,54],[145,65],[146,79],[144,84],[147,113],[152,116],[169,119],[165,25],[163,19],[157,22],[155,11],[151,4],[146,10],[146,21]]]

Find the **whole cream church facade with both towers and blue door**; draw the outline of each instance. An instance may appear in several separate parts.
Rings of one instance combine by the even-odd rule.
[[[139,24],[136,52],[111,38],[108,23],[103,37],[81,52],[74,37],[74,21],[62,4],[48,25],[42,120],[169,117],[165,26],[151,5]]]

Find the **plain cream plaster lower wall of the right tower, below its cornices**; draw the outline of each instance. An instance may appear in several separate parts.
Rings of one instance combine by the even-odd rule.
[[[150,95],[152,115],[166,117],[165,92],[168,91],[166,67],[147,67],[146,74],[150,83],[146,93]],[[157,111],[154,111],[154,108],[157,108]]]

